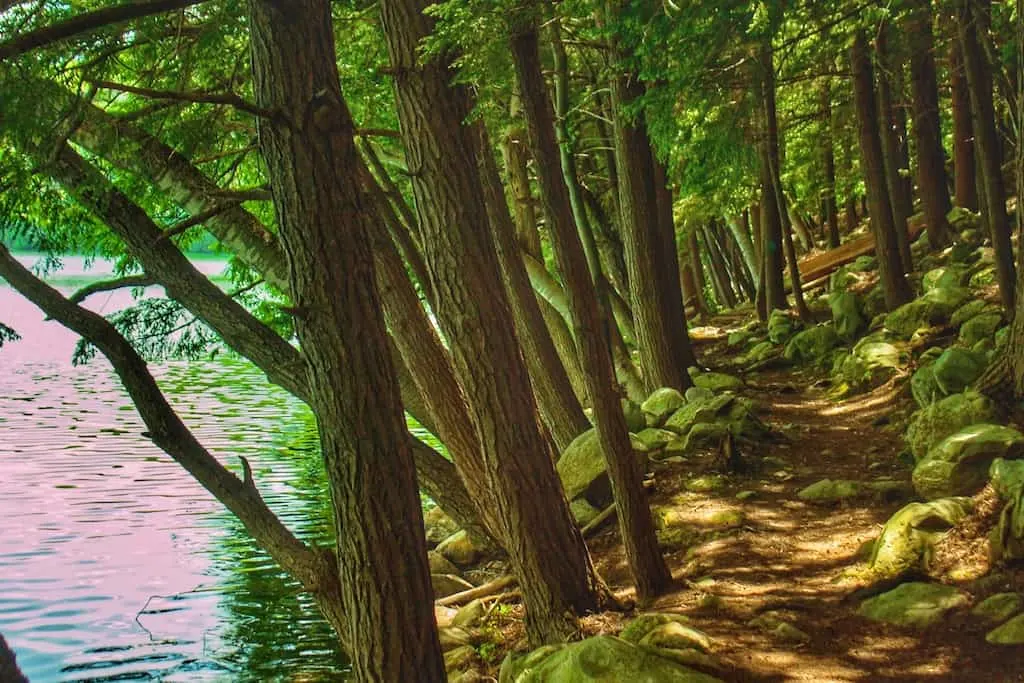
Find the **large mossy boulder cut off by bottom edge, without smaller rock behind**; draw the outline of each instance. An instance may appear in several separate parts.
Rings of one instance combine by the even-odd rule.
[[[499,683],[720,683],[653,650],[614,636],[548,645],[502,663]]]

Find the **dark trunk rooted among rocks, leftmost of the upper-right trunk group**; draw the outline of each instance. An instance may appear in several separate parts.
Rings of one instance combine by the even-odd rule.
[[[853,95],[860,130],[861,165],[870,205],[871,231],[874,233],[879,274],[885,293],[886,308],[892,310],[909,301],[913,294],[903,273],[893,225],[889,191],[886,187],[882,141],[879,139],[874,76],[871,73],[871,58],[863,32],[858,32],[854,38],[853,47],[850,48],[850,62],[853,68]]]

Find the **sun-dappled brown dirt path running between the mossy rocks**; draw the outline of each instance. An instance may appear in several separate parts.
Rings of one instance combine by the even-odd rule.
[[[957,610],[938,626],[911,631],[857,615],[857,584],[845,581],[863,559],[862,548],[912,498],[878,497],[836,506],[804,503],[797,493],[824,478],[868,481],[889,477],[909,486],[910,467],[897,458],[913,410],[909,375],[867,393],[835,400],[827,396],[825,371],[787,368],[742,375],[728,367],[725,343],[738,318],[717,318],[698,355],[713,370],[738,374],[742,393],[761,407],[760,416],[782,442],[748,445],[750,473],[728,473],[709,451],[655,472],[652,507],[671,506],[699,529],[723,510],[738,510],[742,522],[731,530],[709,531],[699,543],[667,555],[677,580],[672,592],[642,611],[678,612],[713,639],[721,664],[709,671],[728,681],[1024,681],[1020,648],[989,645],[991,627]],[[771,467],[757,466],[768,459]],[[726,485],[691,493],[685,483],[699,474],[720,473]],[[738,492],[754,492],[737,500]],[[979,496],[978,499],[982,499]],[[983,501],[981,501],[983,504]],[[976,529],[977,531],[977,529]],[[987,565],[983,535],[967,533],[946,544],[955,562],[975,565],[973,581],[956,585],[977,603],[993,593],[1024,591],[1024,572]],[[632,597],[615,524],[589,541],[601,575],[624,599]],[[941,558],[940,558],[941,561]],[[955,583],[955,582],[949,582]],[[891,588],[891,587],[890,587]],[[635,614],[603,613],[585,620],[587,635],[616,633]],[[780,640],[758,628],[781,618],[809,636]],[[753,622],[753,624],[752,624]],[[511,641],[516,638],[513,633]]]

